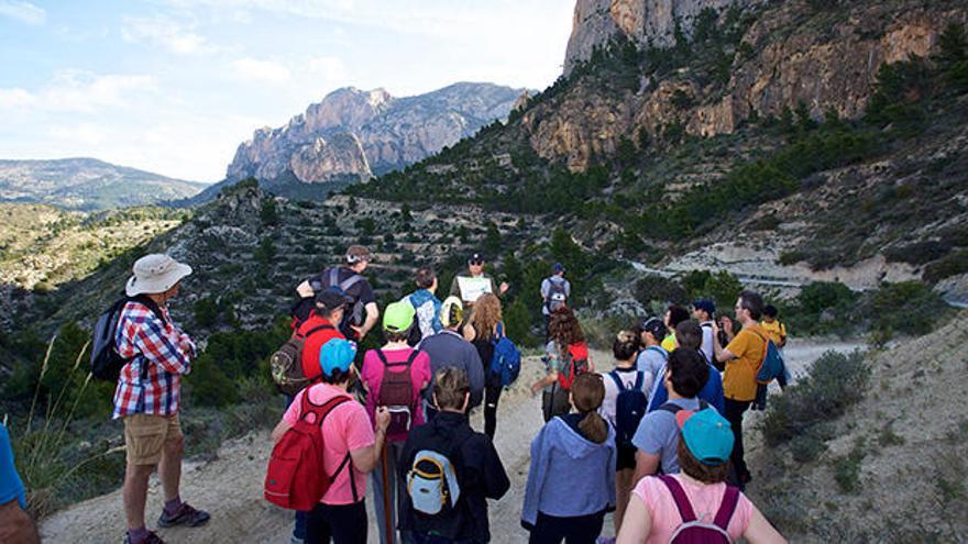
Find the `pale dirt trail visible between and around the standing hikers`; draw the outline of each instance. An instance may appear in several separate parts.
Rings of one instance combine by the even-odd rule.
[[[787,358],[791,371],[796,375],[826,349],[851,351],[859,346],[856,342],[792,341],[787,347]],[[608,354],[593,352],[592,358],[600,369],[610,368]],[[512,487],[504,499],[491,503],[492,541],[496,544],[527,541],[527,533],[519,523],[520,509],[530,460],[529,445],[542,424],[540,398],[532,397],[527,387],[541,371],[542,365],[537,357],[526,358],[520,379],[504,393],[498,407],[495,444]],[[472,417],[475,429],[483,428],[482,420],[477,410]],[[758,435],[750,435],[748,447],[751,451],[761,447]],[[219,449],[217,458],[208,463],[186,463],[182,496],[211,512],[212,521],[204,528],[167,529],[160,534],[172,543],[287,543],[292,513],[262,498],[270,449],[268,431],[258,430],[228,442]],[[162,501],[161,486],[153,479],[147,500],[150,526],[155,525]],[[370,542],[377,542],[372,504],[372,496],[369,496]],[[121,542],[124,525],[121,491],[117,490],[54,514],[43,523],[42,535],[44,542],[54,544]],[[606,522],[605,534],[612,534],[610,520]]]

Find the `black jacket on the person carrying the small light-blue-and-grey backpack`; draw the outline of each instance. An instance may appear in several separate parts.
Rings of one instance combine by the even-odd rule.
[[[461,496],[452,510],[425,515],[414,510],[409,495],[404,493],[399,501],[400,529],[459,541],[491,541],[486,499],[501,499],[510,487],[491,438],[475,433],[466,415],[439,412],[429,423],[410,430],[398,465],[404,479],[421,449],[448,454],[461,486]]]

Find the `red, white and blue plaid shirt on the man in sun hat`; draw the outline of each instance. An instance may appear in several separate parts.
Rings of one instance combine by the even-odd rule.
[[[114,419],[134,413],[169,415],[178,412],[182,375],[191,370],[195,343],[172,323],[140,302],[128,302],[121,311],[114,345],[124,358],[114,389]],[[144,379],[142,379],[144,373]]]

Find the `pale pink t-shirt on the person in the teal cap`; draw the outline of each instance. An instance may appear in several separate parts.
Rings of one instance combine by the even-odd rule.
[[[710,523],[716,518],[719,511],[719,503],[723,501],[723,495],[726,492],[726,484],[703,485],[686,480],[681,475],[672,475],[679,480],[682,489],[685,490],[692,510],[698,520],[707,520]],[[662,484],[658,477],[647,476],[639,480],[638,485],[631,491],[636,497],[646,503],[646,508],[652,515],[652,530],[646,544],[664,544],[672,537],[672,533],[682,524],[682,517],[679,515],[679,508],[672,493],[666,484]],[[752,514],[752,502],[745,495],[739,493],[739,500],[736,503],[736,510],[726,532],[733,541],[739,540],[749,525],[749,518]]]

